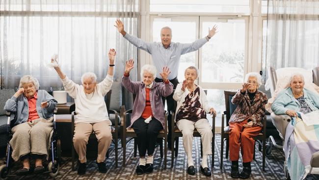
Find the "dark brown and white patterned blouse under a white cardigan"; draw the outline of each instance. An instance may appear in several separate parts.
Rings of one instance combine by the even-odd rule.
[[[200,119],[206,119],[206,113],[199,102],[199,95],[200,91],[197,87],[185,97],[183,105],[177,112],[176,121],[186,119],[196,122]]]

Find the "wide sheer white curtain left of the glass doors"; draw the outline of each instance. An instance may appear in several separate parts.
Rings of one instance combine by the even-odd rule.
[[[31,74],[40,89],[62,87],[48,67],[59,55],[62,71],[76,83],[84,72],[106,77],[107,52],[117,52],[114,81],[121,81],[125,60],[137,59],[137,49],[113,26],[121,19],[137,36],[138,0],[0,0],[1,88],[19,85]],[[134,63],[137,64],[137,63]],[[137,79],[136,67],[131,73]]]

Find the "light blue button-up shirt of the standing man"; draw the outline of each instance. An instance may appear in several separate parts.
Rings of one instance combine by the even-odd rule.
[[[129,33],[126,33],[124,38],[137,48],[152,55],[153,64],[158,71],[158,74],[156,75],[157,78],[161,79],[159,73],[162,72],[164,66],[168,66],[171,71],[168,75],[169,80],[176,78],[178,75],[181,55],[196,51],[208,42],[206,37],[204,37],[202,39],[197,39],[192,43],[171,42],[168,48],[164,48],[161,42],[145,42]]]

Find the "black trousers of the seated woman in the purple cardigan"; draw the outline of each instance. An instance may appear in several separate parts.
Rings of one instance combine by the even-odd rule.
[[[144,118],[139,118],[133,122],[133,129],[137,135],[137,147],[140,157],[146,154],[153,155],[156,145],[157,136],[160,130],[163,129],[159,120],[152,118],[149,123],[144,121]]]

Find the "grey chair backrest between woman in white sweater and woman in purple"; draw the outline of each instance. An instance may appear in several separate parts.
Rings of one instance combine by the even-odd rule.
[[[110,95],[109,108],[117,112],[121,111],[123,105],[123,88],[121,82],[113,82]]]

